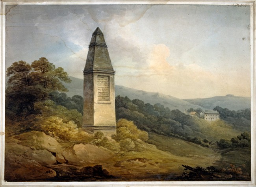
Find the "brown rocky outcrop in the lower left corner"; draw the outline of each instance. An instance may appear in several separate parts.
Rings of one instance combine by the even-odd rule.
[[[86,181],[109,178],[109,172],[95,164],[113,153],[92,144],[61,146],[39,131],[6,137],[6,181]],[[81,168],[82,167],[82,168]]]

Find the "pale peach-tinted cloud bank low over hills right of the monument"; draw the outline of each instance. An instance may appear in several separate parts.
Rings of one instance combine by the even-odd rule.
[[[148,56],[147,69],[136,74],[127,71],[128,78],[119,77],[117,84],[178,98],[205,98],[228,93],[244,96],[250,93],[250,85],[245,84],[250,81],[248,76],[237,77],[237,72],[213,74],[197,64],[170,65],[167,61],[169,55],[166,45],[155,45]]]

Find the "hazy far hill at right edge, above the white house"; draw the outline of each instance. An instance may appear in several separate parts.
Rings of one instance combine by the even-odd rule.
[[[213,109],[216,106],[235,111],[250,108],[250,97],[239,97],[230,94],[211,98],[185,99],[185,101],[208,109]]]

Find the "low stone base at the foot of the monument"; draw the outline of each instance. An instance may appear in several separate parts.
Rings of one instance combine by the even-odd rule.
[[[100,131],[104,133],[104,136],[106,137],[111,137],[111,135],[117,132],[116,126],[83,126],[82,129],[92,134]]]

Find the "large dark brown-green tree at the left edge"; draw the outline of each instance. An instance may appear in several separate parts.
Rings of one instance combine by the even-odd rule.
[[[45,57],[32,64],[14,62],[7,68],[6,107],[14,115],[36,114],[35,102],[44,101],[51,91],[68,91],[61,81],[70,83],[63,68],[55,68]]]

